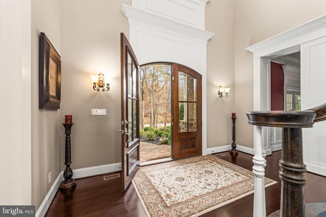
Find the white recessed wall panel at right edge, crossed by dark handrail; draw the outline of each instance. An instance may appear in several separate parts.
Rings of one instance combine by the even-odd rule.
[[[301,46],[302,110],[326,103],[326,37]],[[304,163],[310,172],[326,176],[326,121],[303,130]]]

